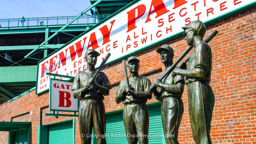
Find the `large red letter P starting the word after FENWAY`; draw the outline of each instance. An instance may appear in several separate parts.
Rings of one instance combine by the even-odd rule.
[[[138,9],[138,13],[137,13],[137,17],[135,18],[135,10]],[[146,6],[144,4],[140,4],[137,7],[133,8],[132,10],[130,10],[129,12],[127,12],[128,15],[128,27],[127,27],[127,31],[129,32],[134,28],[137,28],[135,26],[135,20],[139,19],[144,13],[146,12]]]

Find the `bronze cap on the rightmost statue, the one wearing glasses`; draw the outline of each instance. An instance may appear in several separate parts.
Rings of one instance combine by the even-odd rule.
[[[187,26],[181,28],[183,28],[184,30],[186,30],[187,28],[194,28],[199,36],[204,36],[206,32],[206,27],[204,23],[200,20],[192,21]]]

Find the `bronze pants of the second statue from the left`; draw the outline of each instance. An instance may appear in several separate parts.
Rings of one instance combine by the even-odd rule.
[[[145,104],[124,105],[124,127],[129,144],[148,144],[148,107]],[[137,137],[135,135],[145,135]]]

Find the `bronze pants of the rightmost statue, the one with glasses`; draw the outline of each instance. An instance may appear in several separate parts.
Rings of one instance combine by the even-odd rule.
[[[212,144],[210,138],[214,94],[207,81],[188,84],[188,111],[196,144]]]

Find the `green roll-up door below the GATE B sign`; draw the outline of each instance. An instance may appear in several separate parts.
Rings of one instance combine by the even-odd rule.
[[[73,123],[62,123],[48,126],[48,144],[72,144]]]

